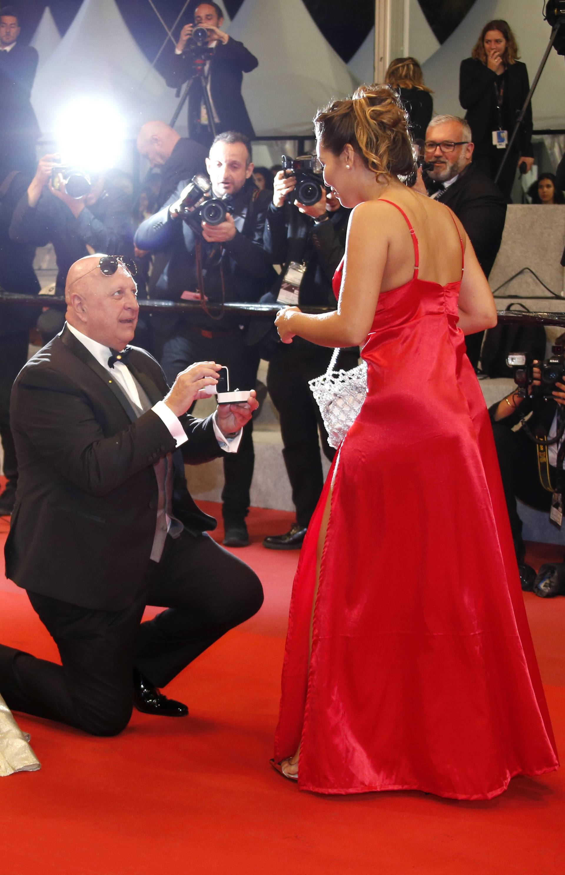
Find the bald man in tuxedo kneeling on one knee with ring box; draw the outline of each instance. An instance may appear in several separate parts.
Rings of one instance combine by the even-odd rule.
[[[134,704],[185,717],[157,688],[262,605],[255,573],[207,535],[216,522],[194,504],[183,464],[236,452],[255,392],[188,416],[220,363],[187,367],[169,389],[157,361],[128,346],[133,270],[108,255],[73,264],[66,325],[11,398],[20,479],[6,575],[62,665],[0,645],[0,692],[15,711],[100,736],[121,732]],[[146,605],[167,610],[142,623]]]

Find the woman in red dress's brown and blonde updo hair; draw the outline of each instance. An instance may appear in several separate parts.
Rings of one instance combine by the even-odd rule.
[[[406,179],[415,172],[408,123],[400,98],[387,85],[361,85],[352,99],[334,101],[314,118],[324,149],[339,156],[351,144],[375,179]]]

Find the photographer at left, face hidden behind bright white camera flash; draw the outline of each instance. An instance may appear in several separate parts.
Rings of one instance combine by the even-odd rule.
[[[93,252],[133,255],[133,221],[128,195],[107,185],[103,176],[80,198],[66,193],[63,182],[52,185],[52,169],[60,156],[44,155],[30,186],[14,209],[10,238],[14,242],[45,246],[51,242],[57,258],[55,288],[65,290],[66,274],[73,262]]]

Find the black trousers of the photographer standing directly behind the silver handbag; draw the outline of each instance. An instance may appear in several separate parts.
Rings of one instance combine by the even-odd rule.
[[[296,507],[296,522],[306,528],[324,486],[318,432],[324,456],[335,450],[328,444],[322,416],[308,381],[324,374],[332,349],[300,338],[279,344],[269,361],[267,388],[281,419],[283,458]],[[349,370],[359,362],[359,351],[339,353],[338,368]]]

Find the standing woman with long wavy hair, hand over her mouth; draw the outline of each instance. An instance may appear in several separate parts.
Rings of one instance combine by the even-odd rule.
[[[475,151],[473,164],[490,176],[497,174],[506,149],[492,144],[493,132],[506,131],[508,140],[520,109],[530,90],[526,64],[518,58],[518,45],[506,21],[489,21],[481,31],[471,58],[461,62],[459,73],[459,102],[467,110],[466,120],[471,125]],[[500,191],[510,202],[516,168],[534,164],[532,151],[532,105],[527,108],[518,137],[506,159],[500,175]]]

